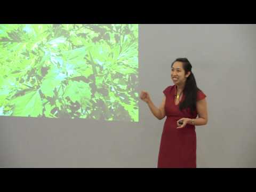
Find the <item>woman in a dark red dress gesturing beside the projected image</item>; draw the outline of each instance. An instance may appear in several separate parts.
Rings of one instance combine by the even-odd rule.
[[[156,118],[167,117],[157,167],[196,167],[195,125],[207,124],[206,95],[198,89],[188,59],[178,58],[171,67],[174,85],[163,91],[164,98],[159,108],[155,107],[146,91],[140,94]]]

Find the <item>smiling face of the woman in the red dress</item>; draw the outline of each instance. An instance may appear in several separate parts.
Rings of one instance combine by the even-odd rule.
[[[171,78],[175,85],[183,85],[186,83],[187,77],[190,75],[190,71],[186,74],[183,69],[183,63],[175,61],[171,69]]]

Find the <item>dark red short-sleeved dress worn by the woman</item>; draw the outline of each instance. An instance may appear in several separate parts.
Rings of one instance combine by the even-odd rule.
[[[164,129],[159,148],[157,167],[196,167],[196,132],[195,125],[187,124],[181,129],[177,128],[177,121],[181,118],[196,118],[197,111],[179,110],[175,105],[175,85],[167,87],[165,94]],[[197,100],[204,99],[202,91],[197,92]],[[180,102],[185,99],[183,95]]]

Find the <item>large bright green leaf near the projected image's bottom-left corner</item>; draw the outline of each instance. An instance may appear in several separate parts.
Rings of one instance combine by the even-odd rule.
[[[43,105],[38,91],[31,91],[11,101],[13,116],[37,117],[43,113]]]

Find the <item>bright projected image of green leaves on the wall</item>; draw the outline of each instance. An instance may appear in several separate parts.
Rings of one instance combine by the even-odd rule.
[[[0,115],[139,121],[138,25],[0,25]]]

